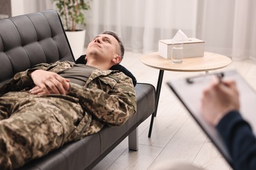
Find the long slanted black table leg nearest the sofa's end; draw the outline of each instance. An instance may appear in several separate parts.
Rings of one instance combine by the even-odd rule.
[[[160,92],[161,92],[161,83],[163,81],[163,70],[159,71],[158,75],[158,85],[156,87],[156,104],[155,104],[155,112],[151,116],[151,122],[150,122],[150,129],[148,131],[148,137],[151,137],[152,133],[152,127],[154,123],[154,117],[156,117],[156,112],[158,111],[158,102],[159,102],[159,97],[160,97]]]

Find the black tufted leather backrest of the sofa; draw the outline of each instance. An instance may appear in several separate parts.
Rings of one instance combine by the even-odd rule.
[[[58,60],[74,56],[55,10],[0,20],[0,84],[33,65]]]

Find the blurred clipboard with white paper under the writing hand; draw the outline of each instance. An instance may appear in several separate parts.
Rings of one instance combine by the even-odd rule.
[[[167,85],[175,95],[177,95],[181,103],[186,107],[209,139],[211,139],[213,144],[215,144],[226,161],[233,167],[232,158],[230,154],[228,154],[228,149],[224,145],[223,139],[220,137],[215,127],[207,124],[207,122],[203,120],[200,110],[203,90],[211,84],[211,80],[214,76],[222,76],[223,80],[236,80],[236,86],[240,94],[240,112],[242,117],[249,122],[254,135],[256,135],[256,92],[236,70],[194,76],[181,80],[170,80],[167,82]]]

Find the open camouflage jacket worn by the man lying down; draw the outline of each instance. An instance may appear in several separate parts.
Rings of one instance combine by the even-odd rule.
[[[11,82],[0,88],[0,96],[10,91],[29,90],[34,86],[30,73],[35,69],[43,69],[61,73],[72,68],[75,63],[57,61],[56,63],[41,63],[32,69],[16,73]],[[119,126],[137,110],[136,95],[131,78],[119,71],[95,69],[89,76],[85,86],[70,83],[69,97],[78,100],[87,114],[91,116],[89,129],[84,135],[99,131],[104,124]],[[58,97],[67,99],[66,95]],[[71,100],[72,101],[72,100]],[[85,132],[83,132],[85,133]],[[83,136],[84,136],[83,135]]]

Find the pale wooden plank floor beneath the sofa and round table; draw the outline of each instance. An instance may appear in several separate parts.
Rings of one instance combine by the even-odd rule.
[[[135,75],[138,82],[148,82],[156,86],[159,71],[141,63],[141,55],[126,52],[121,64]],[[256,90],[256,61],[250,59],[232,61],[228,67],[221,70],[226,69],[236,69]],[[213,72],[210,71],[210,73]],[[166,85],[167,80],[200,74],[203,73],[165,71],[152,137],[148,138],[150,126],[150,118],[148,118],[139,126],[137,152],[128,149],[128,140],[125,139],[104,160],[100,161],[94,170],[143,170],[165,161],[190,162],[209,170],[232,169]]]

